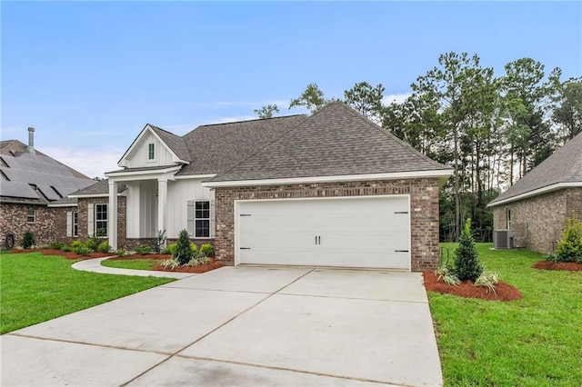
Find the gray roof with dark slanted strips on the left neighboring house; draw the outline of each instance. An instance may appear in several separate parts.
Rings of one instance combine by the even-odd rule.
[[[0,196],[3,202],[52,203],[93,184],[73,168],[17,140],[0,144]]]

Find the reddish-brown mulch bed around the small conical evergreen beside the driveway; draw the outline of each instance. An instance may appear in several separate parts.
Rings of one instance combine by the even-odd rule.
[[[442,280],[437,281],[438,277],[433,272],[423,272],[422,275],[425,280],[426,291],[428,292],[447,293],[467,298],[497,301],[514,301],[523,297],[523,294],[509,283],[499,282],[495,286],[495,293],[491,291],[487,293],[487,288],[475,286],[470,281],[459,285],[449,285]]]

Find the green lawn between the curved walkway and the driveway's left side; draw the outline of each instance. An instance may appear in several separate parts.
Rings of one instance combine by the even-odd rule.
[[[73,263],[41,253],[0,254],[0,333],[174,281],[80,272]]]

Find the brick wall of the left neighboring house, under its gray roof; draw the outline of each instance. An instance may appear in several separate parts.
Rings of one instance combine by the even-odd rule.
[[[34,223],[26,222],[29,209],[35,210]],[[35,235],[36,244],[60,241],[62,236],[66,235],[67,210],[71,211],[67,208],[49,208],[46,204],[2,203],[0,205],[0,236],[4,239],[5,233],[14,233],[15,246],[20,245],[26,231],[31,231]],[[63,235],[61,235],[58,230],[63,219],[65,225]]]

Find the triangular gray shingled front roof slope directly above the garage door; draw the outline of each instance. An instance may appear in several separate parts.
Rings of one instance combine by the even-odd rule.
[[[331,103],[211,181],[449,169],[346,104]]]

